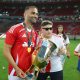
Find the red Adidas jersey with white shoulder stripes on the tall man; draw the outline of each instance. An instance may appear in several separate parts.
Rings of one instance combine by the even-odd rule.
[[[31,31],[28,31],[28,35],[31,35]],[[37,33],[32,30],[31,40],[31,52],[28,52],[28,37],[23,23],[12,26],[6,33],[5,43],[12,45],[11,55],[13,56],[16,64],[26,72],[32,63],[32,52],[36,46]],[[16,75],[16,72],[11,64],[9,64],[9,74]]]

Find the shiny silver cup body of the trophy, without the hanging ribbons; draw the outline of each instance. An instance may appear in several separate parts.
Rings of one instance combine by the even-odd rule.
[[[55,49],[56,45],[52,41],[46,39],[43,40],[33,64],[39,69],[44,68],[48,64],[47,59]]]

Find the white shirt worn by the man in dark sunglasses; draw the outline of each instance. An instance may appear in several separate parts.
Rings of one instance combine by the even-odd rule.
[[[54,42],[57,46],[56,50],[52,52],[52,55],[50,57],[50,62],[51,62],[51,69],[50,69],[50,72],[57,72],[57,71],[61,71],[63,70],[63,66],[62,66],[62,63],[61,63],[61,58],[60,56],[57,55],[58,53],[58,50],[60,48],[64,48],[64,43],[62,41],[62,39],[57,36],[56,34],[53,34],[53,36],[51,37],[52,42]],[[66,51],[65,51],[66,53]]]

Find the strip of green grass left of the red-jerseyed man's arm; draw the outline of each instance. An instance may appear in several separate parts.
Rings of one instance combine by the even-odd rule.
[[[7,80],[7,61],[3,56],[3,45],[4,45],[4,40],[0,39],[0,80]],[[5,67],[5,69],[3,69]]]

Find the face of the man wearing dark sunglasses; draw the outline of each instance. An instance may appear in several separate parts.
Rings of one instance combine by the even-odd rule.
[[[45,37],[50,37],[52,34],[52,25],[49,24],[49,25],[42,27],[42,34]]]

